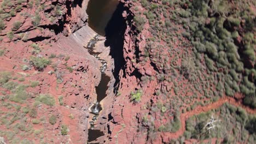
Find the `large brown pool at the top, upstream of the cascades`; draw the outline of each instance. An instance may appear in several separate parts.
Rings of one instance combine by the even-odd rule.
[[[86,13],[89,26],[100,35],[105,35],[105,28],[119,4],[118,0],[90,0]]]

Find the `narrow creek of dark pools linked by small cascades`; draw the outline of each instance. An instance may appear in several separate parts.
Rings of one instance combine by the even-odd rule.
[[[109,20],[111,19],[117,5],[119,4],[118,0],[90,0],[88,3],[88,8],[86,13],[89,16],[88,23],[89,26],[99,35],[105,35],[105,28],[108,25]],[[97,102],[90,107],[90,111],[93,115],[90,123],[90,128],[88,131],[88,142],[93,143],[93,141],[97,140],[98,137],[103,136],[104,133],[95,128],[95,121],[98,118],[100,111],[102,110],[102,106],[100,101],[104,99],[108,90],[108,83],[110,81],[110,77],[106,75],[105,71],[107,69],[107,62],[104,59],[98,57],[100,52],[95,51],[95,44],[99,41],[96,35],[93,39],[91,39],[86,46],[90,55],[96,57],[101,62],[101,81],[100,84],[96,87],[97,94]]]

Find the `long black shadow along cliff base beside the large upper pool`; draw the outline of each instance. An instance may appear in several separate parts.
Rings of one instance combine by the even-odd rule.
[[[119,72],[123,70],[125,76],[125,59],[124,59],[124,33],[127,27],[126,20],[123,17],[124,3],[119,3],[117,9],[114,11],[112,18],[109,20],[106,28],[106,41],[105,46],[110,47],[110,56],[114,59],[114,87],[119,87]],[[115,91],[115,90],[114,90]]]

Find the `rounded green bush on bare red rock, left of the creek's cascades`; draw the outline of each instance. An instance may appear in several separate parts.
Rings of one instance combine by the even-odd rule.
[[[40,57],[31,57],[30,61],[33,63],[34,68],[42,71],[47,65],[51,63],[49,59]]]

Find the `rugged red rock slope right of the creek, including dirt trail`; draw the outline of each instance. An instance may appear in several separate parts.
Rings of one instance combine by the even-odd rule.
[[[173,39],[169,41],[173,47],[168,47],[164,42],[165,40],[160,39],[158,41],[154,39],[159,37],[159,33],[150,31],[152,29],[150,29],[148,21],[142,24],[141,31],[136,28],[136,22],[139,22],[143,17],[150,17],[154,14],[146,11],[139,1],[124,0],[121,3],[123,3],[123,13],[120,13],[120,15],[123,16],[127,24],[122,33],[123,50],[119,52],[119,55],[122,55],[124,59],[124,63],[122,63],[123,65],[121,65],[117,74],[114,74],[115,80],[118,81],[118,85],[115,87],[116,93],[109,94],[108,97],[102,100],[102,103],[107,105],[104,105],[104,109],[100,113],[97,126],[106,135],[99,137],[97,142],[174,143],[174,141],[185,141],[183,133],[186,130],[185,121],[188,117],[218,109],[224,103],[240,105],[248,113],[255,113],[255,110],[242,105],[241,102],[244,96],[239,93],[235,94],[235,99],[223,97],[217,102],[213,103],[211,101],[203,106],[193,107],[192,105],[191,109],[189,106],[189,110],[186,111],[187,101],[196,97],[194,102],[197,103],[200,101],[199,97],[204,95],[201,92],[203,88],[196,91],[195,83],[199,82],[199,79],[205,80],[208,77],[196,77],[195,83],[189,79],[193,72],[189,71],[189,68],[194,63],[184,62],[192,57],[193,47],[187,45],[190,41],[182,36],[185,29],[175,22],[170,24],[173,25],[173,29],[178,30],[167,29],[166,32],[170,32],[171,35],[179,33],[179,36],[173,36]],[[157,5],[156,3],[161,4],[162,1],[152,3]],[[169,5],[168,2],[166,3]],[[183,8],[187,9],[188,5],[184,4]],[[152,10],[153,8],[150,7],[149,9]],[[171,7],[170,9],[174,8]],[[155,11],[152,13],[155,13]],[[139,17],[137,21],[134,19],[135,16]],[[159,15],[152,17],[150,19],[158,19],[156,21],[165,23],[165,17],[161,12]],[[153,28],[158,29],[159,26],[154,27],[153,25]],[[151,40],[154,42],[147,40],[148,38],[152,38]],[[248,64],[251,63],[248,62]],[[206,73],[207,70],[204,71],[202,73]],[[214,87],[213,83],[210,81],[209,83],[210,87]],[[137,93],[142,93],[139,102],[132,100],[132,95]],[[179,98],[182,100],[177,100]],[[187,142],[191,141],[188,140]]]

